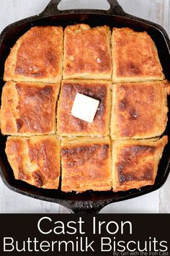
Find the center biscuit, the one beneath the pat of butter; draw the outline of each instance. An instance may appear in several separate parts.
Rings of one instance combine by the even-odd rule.
[[[111,106],[109,85],[110,82],[107,81],[63,81],[61,85],[60,99],[58,101],[58,135],[108,135]],[[82,93],[99,101],[99,107],[92,123],[83,121],[71,115],[71,108],[76,93]]]

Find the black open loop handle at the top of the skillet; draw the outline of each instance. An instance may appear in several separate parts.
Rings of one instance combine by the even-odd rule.
[[[44,9],[43,12],[40,13],[40,17],[49,17],[56,14],[64,14],[64,13],[102,13],[102,14],[115,14],[118,16],[125,16],[126,13],[120,6],[117,0],[105,0],[109,3],[108,10],[99,10],[99,9],[71,9],[71,10],[60,10],[58,9],[58,5],[62,0],[51,0],[48,6]],[[81,1],[81,0],[79,0]]]

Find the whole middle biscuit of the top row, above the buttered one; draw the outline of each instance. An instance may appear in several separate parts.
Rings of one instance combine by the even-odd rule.
[[[64,31],[63,79],[110,80],[111,31],[107,26],[78,24]]]

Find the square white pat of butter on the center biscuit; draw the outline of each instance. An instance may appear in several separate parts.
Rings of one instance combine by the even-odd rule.
[[[99,101],[81,93],[77,93],[71,109],[72,116],[92,123],[97,113]]]

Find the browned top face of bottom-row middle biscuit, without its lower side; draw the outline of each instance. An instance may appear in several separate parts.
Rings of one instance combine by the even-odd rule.
[[[61,145],[65,169],[64,179],[70,181],[102,180],[110,176],[110,145],[106,142],[81,142]]]

